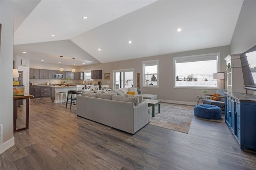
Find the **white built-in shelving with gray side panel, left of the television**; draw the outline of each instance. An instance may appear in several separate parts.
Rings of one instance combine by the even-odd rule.
[[[225,60],[228,92],[245,93],[240,54],[228,55]]]

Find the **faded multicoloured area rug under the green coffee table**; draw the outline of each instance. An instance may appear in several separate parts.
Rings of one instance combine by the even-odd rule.
[[[188,133],[194,115],[194,106],[161,103],[160,113],[158,107],[155,109],[156,114],[155,117],[151,117],[150,125]]]

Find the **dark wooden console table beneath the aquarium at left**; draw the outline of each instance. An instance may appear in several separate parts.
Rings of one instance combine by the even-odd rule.
[[[29,98],[34,98],[33,95],[24,94],[24,96],[13,96],[13,132],[23,131],[28,129],[28,115],[29,115]],[[17,118],[18,118],[18,100],[26,99],[26,126],[20,129],[17,127]]]

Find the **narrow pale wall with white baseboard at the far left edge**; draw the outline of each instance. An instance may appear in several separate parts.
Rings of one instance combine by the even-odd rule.
[[[13,137],[13,18],[12,1],[0,1],[2,23],[0,52],[0,123],[3,124],[3,144],[0,153],[14,145]]]

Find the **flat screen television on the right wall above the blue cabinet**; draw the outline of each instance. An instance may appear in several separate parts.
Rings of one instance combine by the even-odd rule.
[[[256,45],[240,55],[245,89],[256,91]]]

